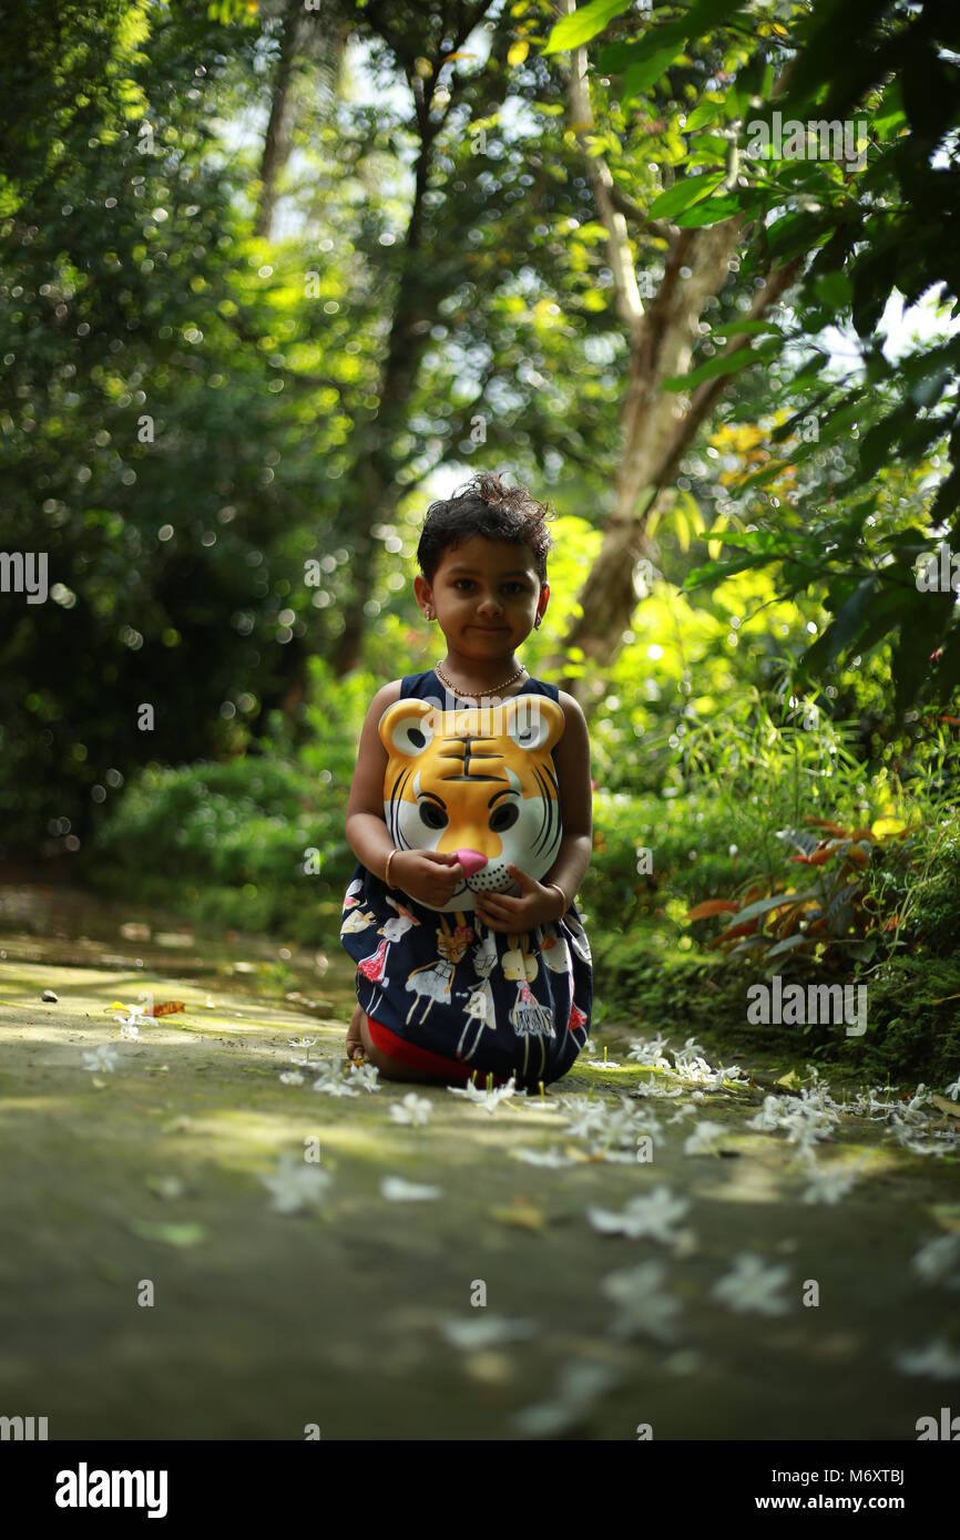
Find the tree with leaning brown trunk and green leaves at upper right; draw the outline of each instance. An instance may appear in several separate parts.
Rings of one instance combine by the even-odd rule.
[[[869,316],[871,323],[875,323],[880,313],[877,302],[886,302],[897,268],[905,270],[905,291],[918,296],[923,283],[908,253],[903,248],[898,253],[891,245],[883,228],[886,217],[878,216],[877,209],[909,188],[917,197],[918,213],[920,208],[925,209],[931,228],[937,229],[940,225],[948,206],[945,183],[949,174],[945,171],[937,177],[926,168],[929,156],[957,122],[957,92],[951,89],[949,79],[951,74],[955,77],[955,69],[942,52],[942,45],[954,42],[958,23],[942,0],[928,0],[925,6],[906,6],[897,0],[855,0],[854,5],[831,0],[820,8],[754,8],[755,23],[760,11],[766,9],[766,17],[757,26],[760,42],[750,38],[750,45],[744,45],[738,35],[743,15],[737,0],[695,0],[690,6],[663,8],[656,17],[647,15],[639,37],[636,32],[641,23],[632,18],[626,23],[627,38],[609,45],[601,52],[599,63],[621,75],[624,102],[639,97],[644,103],[649,102],[649,111],[675,111],[680,94],[676,86],[683,80],[684,65],[689,65],[689,54],[703,46],[704,40],[710,45],[713,31],[720,29],[713,51],[713,89],[698,97],[684,122],[684,136],[697,131],[697,137],[690,140],[690,149],[683,143],[680,154],[670,157],[686,174],[678,182],[664,176],[663,191],[644,206],[612,177],[604,162],[604,148],[612,139],[613,143],[616,140],[609,122],[603,132],[596,132],[584,49],[586,42],[629,6],[589,5],[576,12],[573,0],[561,0],[558,9],[564,17],[553,29],[549,51],[572,51],[569,80],[573,126],[590,169],[598,217],[607,229],[618,313],[630,339],[616,505],[581,593],[581,613],[566,638],[567,650],[579,648],[596,662],[609,662],[630,622],[636,599],[633,573],[644,550],[644,531],[656,499],[738,370],[754,362],[766,365],[781,351],[784,339],[777,336],[777,326],[764,320],[764,313],[790,285],[803,280],[800,293],[809,296],[804,319],[809,316],[815,330],[823,328],[824,303],[831,319],[843,319],[844,314],[849,317],[852,308],[868,365],[875,379],[883,377],[880,348],[864,330],[863,319]],[[666,11],[670,20],[664,22],[661,17]],[[790,25],[784,26],[783,20]],[[775,68],[775,55],[780,55],[780,68]],[[929,89],[921,86],[923,79],[928,79]],[[666,85],[666,103],[663,86],[656,89],[658,82]],[[906,116],[900,109],[900,83]],[[724,85],[727,89],[720,89]],[[860,179],[868,162],[866,157],[851,154],[846,134],[851,128],[857,134],[866,125],[841,123],[838,117],[863,112],[864,100],[874,108],[880,106],[880,111],[871,120],[877,132],[872,146],[875,160]],[[792,140],[795,154],[790,165],[790,149],[784,152],[777,143],[772,152],[767,148],[763,159],[750,162],[743,156],[743,120],[749,106],[767,129],[767,145],[777,108],[783,108],[780,117],[789,120],[784,134],[797,128],[803,136],[801,145],[807,139],[807,125],[794,122],[794,114],[800,117],[801,112],[818,108],[823,119],[809,128],[820,132],[826,145],[815,142],[807,152]],[[841,146],[834,129],[843,134]],[[897,143],[908,129],[914,131],[912,143]],[[621,156],[621,163],[623,159]],[[911,174],[906,174],[908,165],[912,166]],[[858,188],[863,188],[860,197]],[[775,214],[781,216],[780,223],[767,228]],[[669,222],[664,274],[646,311],[636,293],[627,223],[630,219],[636,233],[644,228],[650,231],[655,220],[663,231]],[[869,231],[878,237],[874,254],[863,245],[857,249],[858,226],[863,234]],[[747,314],[732,325],[723,317],[713,317],[710,325],[701,316],[704,300],[718,294],[727,282],[727,268],[740,266],[740,257],[755,283]],[[843,271],[844,266],[849,266],[851,279],[858,274],[860,297],[855,280],[848,283],[838,279],[834,279],[827,297],[827,273]],[[951,246],[949,240],[937,239],[937,270],[929,277],[934,276],[948,279],[952,293],[957,293],[955,242]],[[684,282],[680,283],[678,277]],[[755,346],[754,339],[764,331],[774,334],[772,340]],[[718,340],[720,351],[712,345],[713,340]],[[946,387],[952,354],[952,346],[948,346],[937,370],[928,371],[935,382],[934,400]],[[795,373],[798,394],[809,394],[811,370],[798,368]],[[914,368],[912,376],[915,374]],[[680,396],[684,405],[678,403]],[[851,405],[849,399],[838,403],[837,431],[841,411],[849,411]],[[928,402],[921,405],[926,407]],[[911,414],[911,405],[903,402],[884,430],[877,425],[871,442],[877,447],[880,442],[889,447],[897,437],[903,442]],[[860,420],[864,419],[869,424],[869,402],[863,402],[860,410]],[[826,425],[831,425],[829,419]],[[914,431],[918,451],[926,450],[946,427],[948,416],[937,419],[934,414],[932,422]],[[877,464],[875,456],[872,464]],[[945,497],[938,500],[945,507]],[[955,499],[946,502],[945,511],[954,502]],[[757,559],[761,559],[760,553]],[[766,559],[772,559],[769,553]],[[852,587],[858,593],[857,605],[848,611],[846,624],[834,631],[835,645],[827,644],[815,654],[820,662],[829,661],[849,641],[846,630],[851,622],[857,622],[857,636],[863,638],[869,625],[875,638],[883,633],[883,624],[877,631],[877,622],[886,616],[892,624],[898,613],[889,593],[883,591],[883,584],[877,585],[864,578],[860,587],[855,582]],[[851,598],[849,574],[838,574],[832,590],[834,605],[849,604]],[[931,624],[920,633],[911,627],[912,639],[908,641],[906,633],[901,639],[903,673],[905,678],[908,673],[912,676],[912,687],[921,650],[926,645],[929,651],[935,645],[946,614],[943,605],[938,610],[928,605],[923,616]],[[949,664],[945,667],[955,671],[960,667],[958,654],[960,644],[949,647]],[[562,664],[562,658],[556,661]],[[576,688],[575,681],[572,687]]]

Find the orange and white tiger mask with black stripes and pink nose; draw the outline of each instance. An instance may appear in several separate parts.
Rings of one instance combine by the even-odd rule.
[[[393,844],[465,855],[475,869],[444,912],[473,909],[475,893],[516,892],[510,862],[539,879],[556,861],[562,827],[552,750],[564,727],[562,707],[539,695],[453,711],[405,698],[381,716]]]

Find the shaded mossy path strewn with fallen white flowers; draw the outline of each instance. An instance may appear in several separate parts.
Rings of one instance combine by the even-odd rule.
[[[321,976],[274,946],[237,972],[227,949],[3,921],[0,1414],[51,1438],[914,1440],[958,1404],[960,1124],[935,1106],[901,1135],[942,1153],[914,1153],[881,1107],[778,1087],[769,1116],[829,1135],[804,1155],[750,1126],[764,1089],[644,1069],[609,1029],[618,1067],[581,1056],[493,1110],[416,1087],[428,1121],[404,1126],[410,1087],[313,1089],[344,1055],[348,959]],[[109,1007],[142,992],[186,1009],[122,1038]],[[102,1046],[114,1067],[85,1067]],[[684,1152],[703,1124],[712,1152]],[[328,1178],[299,1214],[263,1184],[284,1157]],[[811,1161],[855,1184],[803,1201]],[[441,1195],[388,1198],[391,1177]],[[598,1227],[636,1200],[641,1234]],[[747,1254],[781,1274],[717,1295]]]

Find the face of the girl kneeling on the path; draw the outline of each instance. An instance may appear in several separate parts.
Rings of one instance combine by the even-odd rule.
[[[541,588],[527,545],[473,534],[448,547],[433,587],[418,574],[421,607],[431,605],[447,645],[467,656],[498,658],[519,647],[547,608],[550,585]]]

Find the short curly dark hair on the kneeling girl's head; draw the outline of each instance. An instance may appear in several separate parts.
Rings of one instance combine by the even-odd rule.
[[[433,584],[444,551],[482,534],[488,541],[529,545],[544,584],[547,551],[553,544],[545,521],[552,517],[550,505],[538,502],[525,487],[505,487],[495,471],[481,471],[453,497],[430,504],[416,559],[427,582]]]

